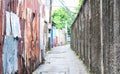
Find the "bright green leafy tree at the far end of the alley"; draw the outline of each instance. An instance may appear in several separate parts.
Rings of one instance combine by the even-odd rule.
[[[52,20],[56,23],[56,28],[65,28],[67,24],[68,35],[70,35],[70,27],[75,19],[75,13],[71,12],[68,8],[59,8],[53,11]]]

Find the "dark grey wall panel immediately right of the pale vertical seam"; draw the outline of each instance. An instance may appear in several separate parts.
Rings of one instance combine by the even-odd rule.
[[[115,74],[114,1],[102,1],[103,65],[105,74]]]

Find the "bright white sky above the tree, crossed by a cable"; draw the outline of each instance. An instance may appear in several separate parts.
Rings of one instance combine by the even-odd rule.
[[[62,1],[72,11],[74,11],[75,7],[78,6],[78,0],[53,0],[53,10],[62,6],[60,1]]]

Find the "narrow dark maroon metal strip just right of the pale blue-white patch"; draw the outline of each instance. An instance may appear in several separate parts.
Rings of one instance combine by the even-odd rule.
[[[26,74],[24,33],[25,33],[25,19],[20,19],[21,24],[21,39],[18,42],[18,74]]]

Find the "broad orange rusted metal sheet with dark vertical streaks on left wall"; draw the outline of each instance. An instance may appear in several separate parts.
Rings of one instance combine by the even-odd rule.
[[[32,16],[32,17],[30,17]],[[36,65],[40,63],[39,53],[39,14],[32,13],[30,9],[27,9],[27,21],[26,21],[26,33],[25,33],[25,51],[26,63],[29,66],[29,70],[36,68]]]

